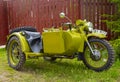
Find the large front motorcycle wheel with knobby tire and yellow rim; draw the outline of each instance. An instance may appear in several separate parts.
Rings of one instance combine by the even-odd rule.
[[[97,52],[97,56],[93,56],[88,46],[85,44],[82,59],[86,67],[97,72],[109,69],[115,60],[114,50],[110,43],[108,43],[106,40],[97,38],[90,39],[89,43],[94,52]]]

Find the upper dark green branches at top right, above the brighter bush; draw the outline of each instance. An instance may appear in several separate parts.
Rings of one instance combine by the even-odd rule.
[[[112,32],[116,33],[116,36],[120,36],[120,0],[110,0],[110,2],[115,4],[117,10],[114,15],[103,16],[107,19],[105,20],[107,27],[110,28]]]

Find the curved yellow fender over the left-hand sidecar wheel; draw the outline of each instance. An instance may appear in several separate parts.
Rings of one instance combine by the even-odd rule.
[[[30,52],[30,47],[29,47],[29,44],[28,42],[26,41],[26,38],[22,35],[21,32],[16,32],[16,33],[12,33],[11,35],[9,35],[7,37],[7,42],[9,41],[9,39],[12,37],[12,36],[17,36],[20,40],[20,44],[21,44],[21,48],[22,48],[22,51],[23,52]],[[6,46],[7,47],[7,46]]]

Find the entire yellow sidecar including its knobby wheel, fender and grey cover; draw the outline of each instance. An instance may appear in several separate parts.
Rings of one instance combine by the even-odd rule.
[[[19,69],[29,58],[71,58],[76,52],[83,52],[83,45],[82,35],[74,31],[47,29],[42,35],[27,30],[16,31],[7,38],[8,63],[14,69]],[[21,65],[16,66],[18,63]]]

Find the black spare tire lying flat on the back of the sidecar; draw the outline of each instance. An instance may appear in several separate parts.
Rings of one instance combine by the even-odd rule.
[[[32,26],[23,26],[23,27],[18,27],[10,31],[10,34],[14,32],[20,32],[20,31],[31,31],[31,32],[37,32],[36,28]]]

